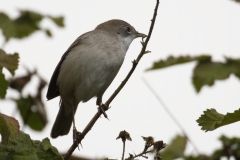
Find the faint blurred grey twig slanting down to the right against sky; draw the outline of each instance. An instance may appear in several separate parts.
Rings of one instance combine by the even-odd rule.
[[[145,78],[142,77],[143,82],[148,87],[148,89],[152,92],[152,94],[157,98],[158,102],[162,105],[163,109],[167,112],[167,114],[171,117],[171,119],[176,123],[176,125],[181,129],[183,135],[187,138],[188,142],[192,144],[195,152],[199,155],[199,151],[196,147],[196,145],[193,143],[193,141],[189,138],[186,131],[182,127],[182,125],[177,121],[177,119],[174,117],[174,115],[171,113],[171,111],[168,109],[166,104],[163,102],[163,100],[160,98],[160,96],[155,92],[155,90],[151,87],[151,85],[147,82]]]

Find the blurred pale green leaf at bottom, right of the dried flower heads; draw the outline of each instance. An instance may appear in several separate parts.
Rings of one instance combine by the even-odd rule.
[[[186,144],[186,137],[177,135],[172,142],[162,152],[160,152],[162,159],[173,160],[183,157]]]

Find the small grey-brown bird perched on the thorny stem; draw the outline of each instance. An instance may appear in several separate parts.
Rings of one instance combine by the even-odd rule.
[[[122,20],[110,20],[79,36],[63,54],[50,80],[47,99],[60,96],[60,110],[51,137],[68,134],[78,104],[102,96],[117,75],[131,42],[138,33]]]

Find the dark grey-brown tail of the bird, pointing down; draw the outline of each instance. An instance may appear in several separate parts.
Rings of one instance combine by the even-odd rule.
[[[57,118],[53,124],[52,127],[52,131],[51,131],[51,137],[52,138],[57,138],[58,136],[63,136],[69,133],[70,128],[72,126],[72,122],[73,122],[73,112],[69,112],[69,111],[65,111],[66,109],[73,109],[70,108],[71,106],[68,106],[69,108],[67,108],[66,106],[64,106],[63,103],[61,103],[60,109],[58,111],[58,115]],[[74,107],[74,114],[76,111],[77,107]],[[66,114],[66,113],[70,113],[70,114]]]

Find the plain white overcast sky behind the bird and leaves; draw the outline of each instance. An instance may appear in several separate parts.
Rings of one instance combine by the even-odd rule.
[[[46,19],[41,25],[53,31],[53,38],[36,32],[23,40],[10,40],[3,49],[7,53],[20,53],[20,69],[16,71],[16,76],[25,73],[23,66],[26,65],[31,70],[37,68],[39,74],[49,81],[70,44],[79,35],[104,21],[122,19],[139,32],[147,34],[155,3],[155,0],[2,0],[0,11],[11,17],[18,15],[18,9],[28,9],[53,16],[62,15],[66,25],[60,29]],[[126,143],[126,154],[142,151],[144,141],[141,136],[151,135],[156,140],[169,143],[176,134],[181,134],[181,130],[143,83],[142,77],[154,87],[200,153],[208,154],[220,147],[217,138],[222,134],[239,136],[239,123],[207,133],[201,131],[196,123],[196,119],[207,108],[216,108],[223,114],[239,108],[240,83],[235,76],[226,81],[217,81],[211,88],[203,87],[201,92],[196,94],[191,84],[195,63],[152,72],[144,71],[154,61],[166,59],[169,55],[211,54],[214,60],[220,61],[224,60],[224,55],[239,58],[239,19],[240,4],[231,0],[161,0],[153,35],[147,47],[152,53],[144,55],[131,79],[111,103],[112,108],[107,112],[110,121],[99,119],[82,141],[83,149],[75,150],[74,154],[91,158],[107,156],[120,159],[122,142],[116,141],[116,137],[121,130],[128,131],[133,139]],[[0,36],[0,45],[2,42],[3,38]],[[140,39],[136,39],[128,50],[119,74],[104,94],[103,101],[107,100],[123,80],[132,66],[131,61],[137,57],[140,50]],[[27,95],[30,90],[35,94],[36,83],[37,79],[33,78],[24,93]],[[47,87],[44,89],[44,98],[46,91]],[[7,96],[12,96],[11,94],[14,95],[10,91]],[[96,113],[95,101],[94,98],[79,105],[75,116],[79,131],[83,130]],[[43,132],[34,132],[25,127],[24,132],[29,133],[32,139],[50,137],[50,130],[58,112],[59,98],[48,102],[44,99],[44,102],[49,123]],[[1,101],[1,112],[14,115],[21,122],[19,115],[13,114],[14,108],[14,103]],[[65,152],[72,144],[72,133],[50,140],[61,152]],[[187,146],[187,153],[194,153],[190,144]]]

